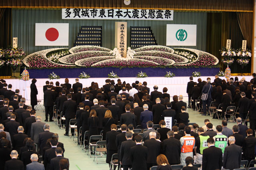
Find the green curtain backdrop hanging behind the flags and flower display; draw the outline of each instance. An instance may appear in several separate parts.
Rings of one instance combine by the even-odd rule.
[[[102,46],[113,49],[115,22],[125,21],[128,25],[128,46],[130,46],[130,26],[151,26],[151,30],[158,45],[166,45],[166,24],[196,24],[196,46],[187,48],[206,50],[205,12],[175,12],[173,21],[154,20],[62,20],[61,10],[12,10],[12,34],[18,37],[18,45],[22,46],[26,54],[43,49],[66,46],[35,46],[35,23],[69,23],[69,46],[73,47],[74,40],[81,26],[102,26]],[[180,46],[176,46],[180,47]]]

